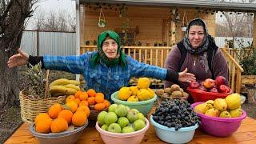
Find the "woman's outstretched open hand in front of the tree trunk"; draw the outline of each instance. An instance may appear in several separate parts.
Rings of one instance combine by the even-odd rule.
[[[11,56],[7,62],[7,65],[9,68],[26,65],[28,63],[29,56],[29,54],[26,54],[21,48],[19,48],[18,54]]]

